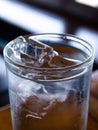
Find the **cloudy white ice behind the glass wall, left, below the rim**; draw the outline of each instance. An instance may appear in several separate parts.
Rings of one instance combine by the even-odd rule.
[[[47,93],[47,90],[43,84],[29,80],[23,80],[16,89],[17,95],[21,97],[23,101],[25,101],[31,95],[37,95],[37,93]]]

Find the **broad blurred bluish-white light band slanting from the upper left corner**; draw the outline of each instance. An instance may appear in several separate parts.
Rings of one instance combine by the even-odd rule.
[[[15,1],[0,0],[0,17],[30,32],[62,33],[66,28],[61,17]]]

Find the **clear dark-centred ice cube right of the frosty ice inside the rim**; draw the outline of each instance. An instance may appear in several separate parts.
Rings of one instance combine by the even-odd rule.
[[[48,62],[58,55],[51,46],[44,44],[32,37],[26,38],[27,53],[21,53],[22,62],[34,67],[48,67]]]

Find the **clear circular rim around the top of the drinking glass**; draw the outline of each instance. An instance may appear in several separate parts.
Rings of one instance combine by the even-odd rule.
[[[10,57],[7,55],[7,49],[8,49],[8,46],[11,45],[12,41],[15,40],[13,39],[12,41],[10,41],[5,47],[4,47],[4,50],[3,50],[3,54],[4,54],[4,58],[5,58],[5,61],[8,62],[9,64],[13,64],[17,67],[21,67],[21,68],[28,68],[28,69],[33,69],[33,70],[36,70],[36,71],[43,71],[43,70],[51,70],[51,71],[59,71],[59,70],[73,70],[73,69],[77,69],[77,68],[80,68],[84,65],[87,65],[89,64],[90,62],[92,62],[94,60],[94,56],[95,56],[95,50],[94,50],[94,47],[87,41],[83,40],[82,38],[79,38],[75,35],[71,35],[71,34],[60,34],[60,33],[40,33],[40,34],[28,34],[28,35],[23,35],[24,37],[27,37],[27,36],[32,36],[32,37],[62,37],[62,38],[65,38],[65,39],[68,39],[68,40],[71,40],[71,41],[74,41],[74,42],[78,42],[78,43],[81,43],[81,45],[83,45],[84,47],[86,47],[89,52],[90,52],[90,55],[88,56],[88,58],[86,58],[83,62],[79,63],[79,64],[76,64],[76,65],[73,65],[73,66],[68,66],[68,67],[57,67],[57,68],[38,68],[38,67],[31,67],[31,66],[28,66],[28,65],[23,65],[23,64],[18,64],[18,63],[15,63],[13,60],[10,59]],[[43,38],[44,38],[43,37]]]

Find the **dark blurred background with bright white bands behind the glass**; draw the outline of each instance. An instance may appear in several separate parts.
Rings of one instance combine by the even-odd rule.
[[[20,35],[69,33],[95,48],[98,69],[98,0],[0,0],[0,107],[9,104],[4,46]]]

